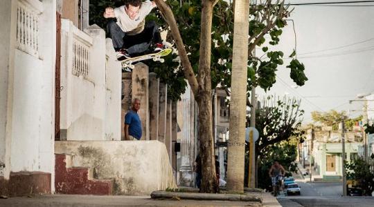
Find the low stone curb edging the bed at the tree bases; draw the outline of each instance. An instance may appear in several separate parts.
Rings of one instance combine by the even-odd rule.
[[[151,193],[152,199],[193,199],[193,200],[215,200],[215,201],[253,201],[262,202],[258,195],[236,195],[236,194],[213,194],[213,193],[179,193],[154,191]]]

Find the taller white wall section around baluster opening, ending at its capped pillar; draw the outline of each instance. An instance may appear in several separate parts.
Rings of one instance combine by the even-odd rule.
[[[100,36],[100,33],[98,34]],[[62,19],[62,139],[103,140],[105,119],[105,37],[90,37]],[[73,41],[89,48],[87,77],[73,75]],[[100,39],[103,39],[102,41]]]

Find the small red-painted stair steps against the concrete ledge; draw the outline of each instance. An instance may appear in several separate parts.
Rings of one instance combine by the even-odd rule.
[[[112,195],[112,179],[94,179],[87,167],[72,167],[71,155],[55,154],[55,192],[60,194]]]

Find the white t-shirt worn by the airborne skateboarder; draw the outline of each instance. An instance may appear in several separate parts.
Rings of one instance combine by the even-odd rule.
[[[139,14],[135,19],[130,19],[129,15],[125,12],[125,6],[114,9],[114,16],[117,18],[117,24],[129,35],[139,34],[143,31],[145,25],[145,17],[152,11],[154,6],[152,2],[147,0],[142,2]]]

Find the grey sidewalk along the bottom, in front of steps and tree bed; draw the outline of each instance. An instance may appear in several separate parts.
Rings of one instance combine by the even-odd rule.
[[[281,207],[275,197],[262,193],[262,205],[249,201],[197,201],[173,199],[151,199],[150,196],[96,196],[96,195],[39,195],[35,197],[10,197],[0,199],[1,207],[99,207],[99,206],[268,206]]]

